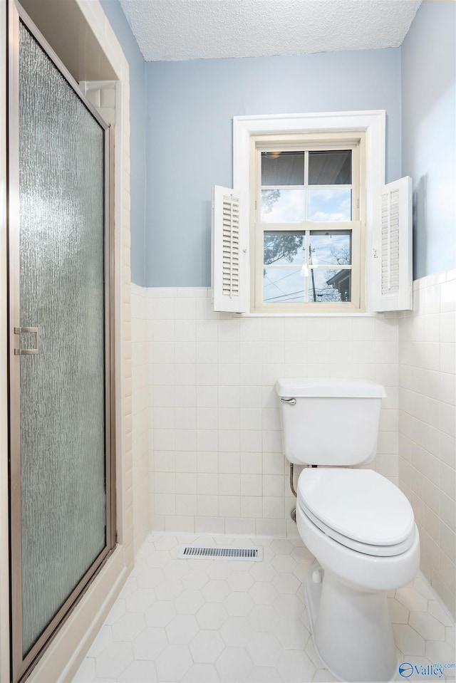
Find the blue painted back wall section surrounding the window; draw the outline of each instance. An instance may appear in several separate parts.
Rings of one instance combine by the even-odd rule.
[[[385,109],[387,179],[400,177],[399,48],[148,62],[146,79],[146,286],[209,286],[212,185],[232,186],[234,115]]]

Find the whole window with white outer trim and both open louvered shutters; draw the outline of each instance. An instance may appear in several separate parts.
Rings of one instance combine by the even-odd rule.
[[[385,112],[234,117],[214,187],[214,311],[412,308],[410,178],[385,185]]]

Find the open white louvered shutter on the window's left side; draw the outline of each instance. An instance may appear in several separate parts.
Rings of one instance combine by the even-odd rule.
[[[212,189],[212,290],[214,311],[247,311],[247,250],[242,249],[239,194],[227,187]]]

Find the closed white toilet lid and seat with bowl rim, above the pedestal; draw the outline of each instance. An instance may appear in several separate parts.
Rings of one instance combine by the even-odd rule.
[[[412,506],[397,486],[371,469],[304,469],[296,523],[325,568],[363,590],[398,588],[418,569]]]

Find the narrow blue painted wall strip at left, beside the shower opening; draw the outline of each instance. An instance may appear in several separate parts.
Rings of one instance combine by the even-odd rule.
[[[130,67],[131,278],[145,285],[145,61],[118,0],[100,0]]]

